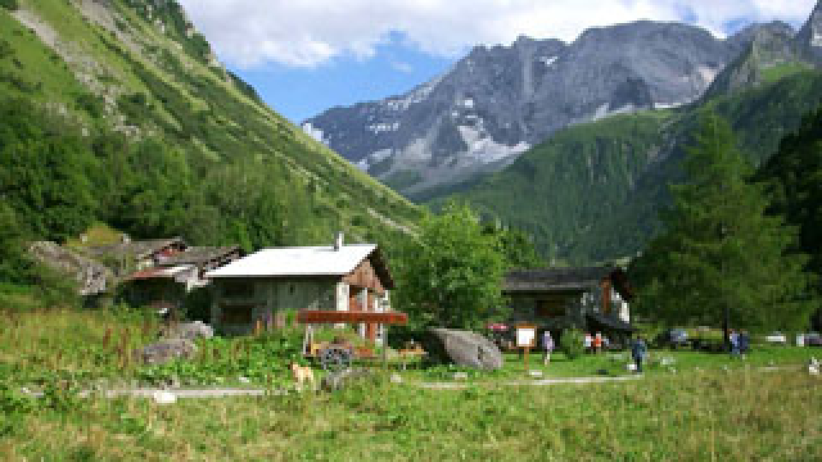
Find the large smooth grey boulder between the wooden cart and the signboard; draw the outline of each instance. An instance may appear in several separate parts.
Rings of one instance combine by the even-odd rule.
[[[499,369],[505,363],[500,349],[491,340],[471,330],[432,329],[439,349],[458,366]]]

